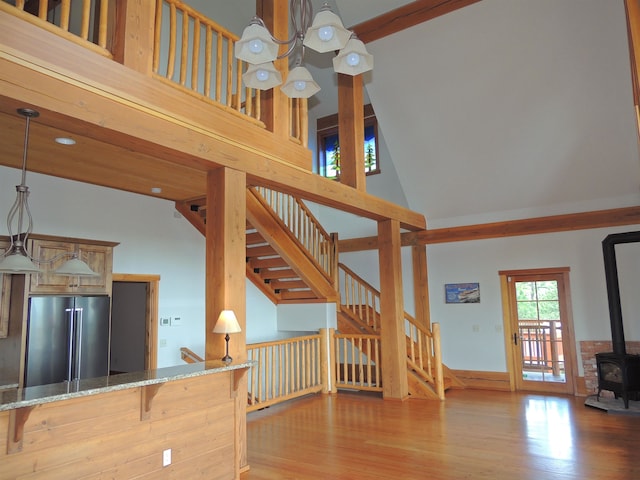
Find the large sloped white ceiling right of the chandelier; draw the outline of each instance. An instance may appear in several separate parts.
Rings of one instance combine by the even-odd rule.
[[[336,3],[353,25],[407,2]],[[367,48],[383,174],[430,227],[640,204],[622,0],[482,0]]]

